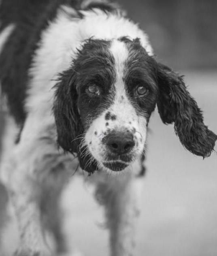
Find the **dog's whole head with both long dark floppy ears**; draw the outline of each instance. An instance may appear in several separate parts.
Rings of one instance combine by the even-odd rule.
[[[193,154],[209,156],[215,145],[182,77],[149,56],[139,39],[85,41],[56,87],[58,143],[77,152],[86,171],[121,171],[142,158],[156,103]]]

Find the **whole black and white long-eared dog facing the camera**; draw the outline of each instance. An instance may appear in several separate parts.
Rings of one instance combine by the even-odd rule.
[[[107,0],[2,0],[0,83],[10,124],[1,178],[19,224],[17,256],[70,255],[58,198],[78,162],[105,206],[111,255],[133,255],[136,182],[156,104],[191,153],[210,156],[217,139],[183,78],[157,63],[147,34]]]

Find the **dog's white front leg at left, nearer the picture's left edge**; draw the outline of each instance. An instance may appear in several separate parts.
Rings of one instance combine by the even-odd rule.
[[[41,226],[42,187],[37,175],[43,161],[38,152],[39,149],[27,144],[18,145],[12,156],[13,160],[9,163],[10,175],[6,187],[15,209],[20,239],[15,256],[50,255]]]

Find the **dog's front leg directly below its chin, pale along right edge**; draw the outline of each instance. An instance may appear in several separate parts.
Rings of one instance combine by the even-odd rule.
[[[142,180],[119,175],[99,183],[96,197],[105,206],[111,256],[133,256]]]

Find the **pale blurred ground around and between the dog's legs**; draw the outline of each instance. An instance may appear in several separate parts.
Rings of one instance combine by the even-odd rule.
[[[184,73],[205,123],[217,133],[217,75]],[[217,154],[202,160],[183,149],[173,126],[162,124],[157,111],[150,128],[135,256],[216,256]],[[66,194],[71,239],[86,256],[109,255],[102,209],[91,188],[76,179]],[[13,249],[16,232],[10,230],[4,237]]]

